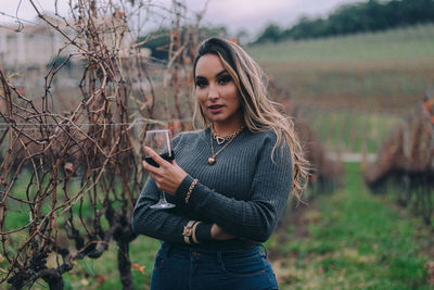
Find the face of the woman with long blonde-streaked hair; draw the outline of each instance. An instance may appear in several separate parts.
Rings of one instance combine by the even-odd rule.
[[[238,88],[216,54],[205,54],[196,63],[195,92],[202,112],[215,125],[237,128],[242,123]]]

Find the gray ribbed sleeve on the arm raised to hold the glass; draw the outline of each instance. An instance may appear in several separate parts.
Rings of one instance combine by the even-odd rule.
[[[256,242],[266,241],[279,222],[293,182],[290,149],[278,147],[272,151],[275,142],[276,138],[270,136],[264,141],[248,201],[228,198],[197,182],[189,205],[229,234]],[[184,199],[191,180],[191,176],[184,178],[177,199]]]

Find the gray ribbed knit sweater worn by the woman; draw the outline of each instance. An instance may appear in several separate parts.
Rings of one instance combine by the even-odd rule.
[[[183,227],[190,219],[202,220],[200,244],[206,250],[248,249],[266,241],[275,230],[292,187],[290,150],[271,152],[276,142],[272,131],[251,133],[246,128],[208,164],[210,130],[182,133],[174,138],[175,157],[189,175],[176,194],[166,194],[176,203],[171,210],[152,210],[159,197],[155,181],[149,178],[132,214],[132,229],[171,243],[186,245]],[[215,152],[222,146],[213,140]],[[199,179],[188,204],[187,191]],[[215,223],[237,239],[210,239]],[[205,234],[203,231],[206,231]]]

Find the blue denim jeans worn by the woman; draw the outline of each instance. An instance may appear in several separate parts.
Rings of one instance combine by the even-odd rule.
[[[151,290],[279,289],[267,255],[259,247],[241,251],[204,251],[163,242]]]

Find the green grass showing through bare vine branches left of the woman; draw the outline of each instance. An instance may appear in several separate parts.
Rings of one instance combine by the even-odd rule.
[[[46,180],[40,180],[41,184],[47,186],[49,178]],[[30,182],[30,173],[28,171],[22,171],[17,181],[12,187],[10,191],[16,198],[27,199],[26,191],[28,184]],[[120,192],[120,181],[116,182],[116,190]],[[73,180],[71,184],[71,196],[74,196],[80,189],[79,180]],[[99,187],[98,190],[101,190]],[[29,197],[34,198],[36,192],[35,182],[29,187]],[[82,199],[82,210],[81,216],[84,220],[88,222],[87,226],[89,228],[93,228],[91,220],[94,217],[93,207],[89,202],[89,196],[93,194],[93,190],[89,191]],[[64,192],[63,187],[59,186],[58,188],[58,205],[64,201]],[[42,214],[48,213],[51,210],[51,197],[48,197],[42,204]],[[13,199],[7,200],[8,212],[5,215],[5,230],[15,230],[21,227],[26,226],[29,223],[29,207],[21,202],[17,202]],[[80,202],[77,202],[74,207],[74,223],[76,228],[84,232],[84,226],[79,220],[79,206]],[[119,202],[113,204],[114,209],[119,207]],[[98,207],[101,210],[102,204],[98,203]],[[60,210],[61,211],[61,210]],[[58,211],[58,214],[60,213]],[[89,222],[90,220],[90,222]],[[56,219],[56,226],[59,229],[58,239],[62,244],[65,244],[67,241],[69,244],[69,250],[74,254],[76,252],[74,241],[67,240],[64,231],[64,223],[65,216],[62,215]],[[103,216],[101,218],[101,225],[104,229],[108,228],[108,222]],[[18,232],[12,234],[8,238],[8,251],[11,253],[16,253],[17,247],[22,245],[28,239],[28,230],[24,229]],[[156,251],[159,248],[159,242],[150,238],[139,237],[130,244],[130,259],[131,263],[139,264],[140,266],[145,266],[143,273],[140,270],[132,268],[132,275],[136,285],[149,285],[151,270],[153,265],[153,260],[156,255]],[[92,260],[89,257],[85,257],[84,260],[77,260],[74,268],[64,274],[64,282],[65,289],[122,289],[119,273],[117,269],[117,245],[114,241],[110,243],[110,248],[106,252],[104,252],[103,256],[97,260]],[[51,254],[48,259],[48,267],[58,267],[56,259],[62,261],[62,257],[55,256],[55,254]],[[8,268],[7,261],[0,261],[0,277],[2,277],[4,270]],[[4,285],[0,285],[0,289],[8,288],[9,285],[4,282]],[[39,279],[31,289],[46,289],[47,283]]]

